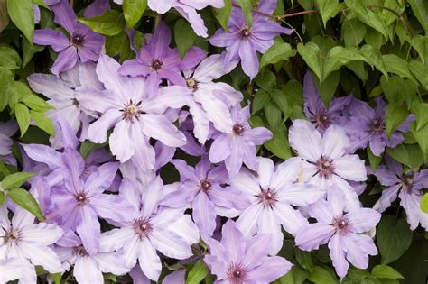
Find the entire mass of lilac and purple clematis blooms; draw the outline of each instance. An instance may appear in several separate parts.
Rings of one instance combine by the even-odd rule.
[[[103,283],[106,273],[184,283],[184,268],[203,265],[216,283],[269,283],[292,270],[285,238],[302,251],[326,244],[344,279],[350,265],[367,269],[368,255],[377,255],[373,232],[397,197],[411,229],[428,230],[419,208],[428,169],[404,169],[386,153],[405,141],[415,117],[387,133],[381,96],[374,108],[352,94],[325,105],[307,71],[302,115],[287,124],[293,153],[267,158],[263,145],[274,141],[277,126],[255,123],[256,103],[252,111],[248,99],[260,75],[258,55],[293,34],[266,16],[275,0],[259,1],[254,11],[229,1],[227,24],[217,32],[197,11],[222,8],[222,0],[148,0],[159,14],[153,33],[137,48],[135,31],[127,30],[135,56],[126,60],[107,55],[111,37],[79,22],[68,1],[45,3],[60,28],[36,29],[33,42],[58,56],[51,74],[27,81],[48,98],[55,132],[49,143],[14,144],[18,124],[0,124],[2,165],[33,173],[23,185],[30,206],[10,194],[23,182],[0,183],[0,282],[36,283],[42,267],[49,278],[66,274],[79,283]],[[97,0],[83,14],[98,19],[126,5],[114,3]],[[161,18],[171,9],[200,37],[211,34],[207,42],[219,53],[195,45],[181,54]],[[225,78],[231,72],[249,78],[248,94]],[[385,164],[369,168],[366,152],[385,156]],[[373,207],[359,197],[368,175],[386,187]],[[42,217],[23,209],[31,206]]]

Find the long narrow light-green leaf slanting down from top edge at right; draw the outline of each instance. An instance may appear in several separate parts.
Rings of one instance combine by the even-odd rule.
[[[352,12],[358,14],[359,21],[371,26],[385,37],[388,36],[386,23],[377,13],[368,9],[364,1],[345,0],[345,3]]]

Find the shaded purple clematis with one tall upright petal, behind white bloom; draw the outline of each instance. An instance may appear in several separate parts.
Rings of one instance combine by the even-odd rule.
[[[321,100],[317,87],[315,86],[312,73],[308,71],[304,76],[303,97],[304,115],[308,117],[318,131],[324,133],[332,124],[343,124],[341,111],[349,105],[353,96],[335,97],[331,100],[330,106],[327,109]]]

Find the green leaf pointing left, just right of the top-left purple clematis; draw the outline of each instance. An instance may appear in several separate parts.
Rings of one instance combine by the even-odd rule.
[[[116,35],[126,26],[124,15],[116,10],[108,10],[105,14],[93,18],[79,19],[79,22],[104,35]]]

